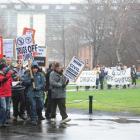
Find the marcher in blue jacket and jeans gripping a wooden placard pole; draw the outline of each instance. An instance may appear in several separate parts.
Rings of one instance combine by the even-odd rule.
[[[31,70],[33,73],[33,78],[31,77],[30,72],[26,72],[23,76],[23,84],[28,87],[27,98],[30,103],[31,112],[31,124],[37,125],[37,121],[40,119],[38,112],[41,112],[43,109],[42,94],[45,87],[45,77],[39,72],[39,66],[36,61],[32,62]],[[33,82],[35,87],[33,87]]]

